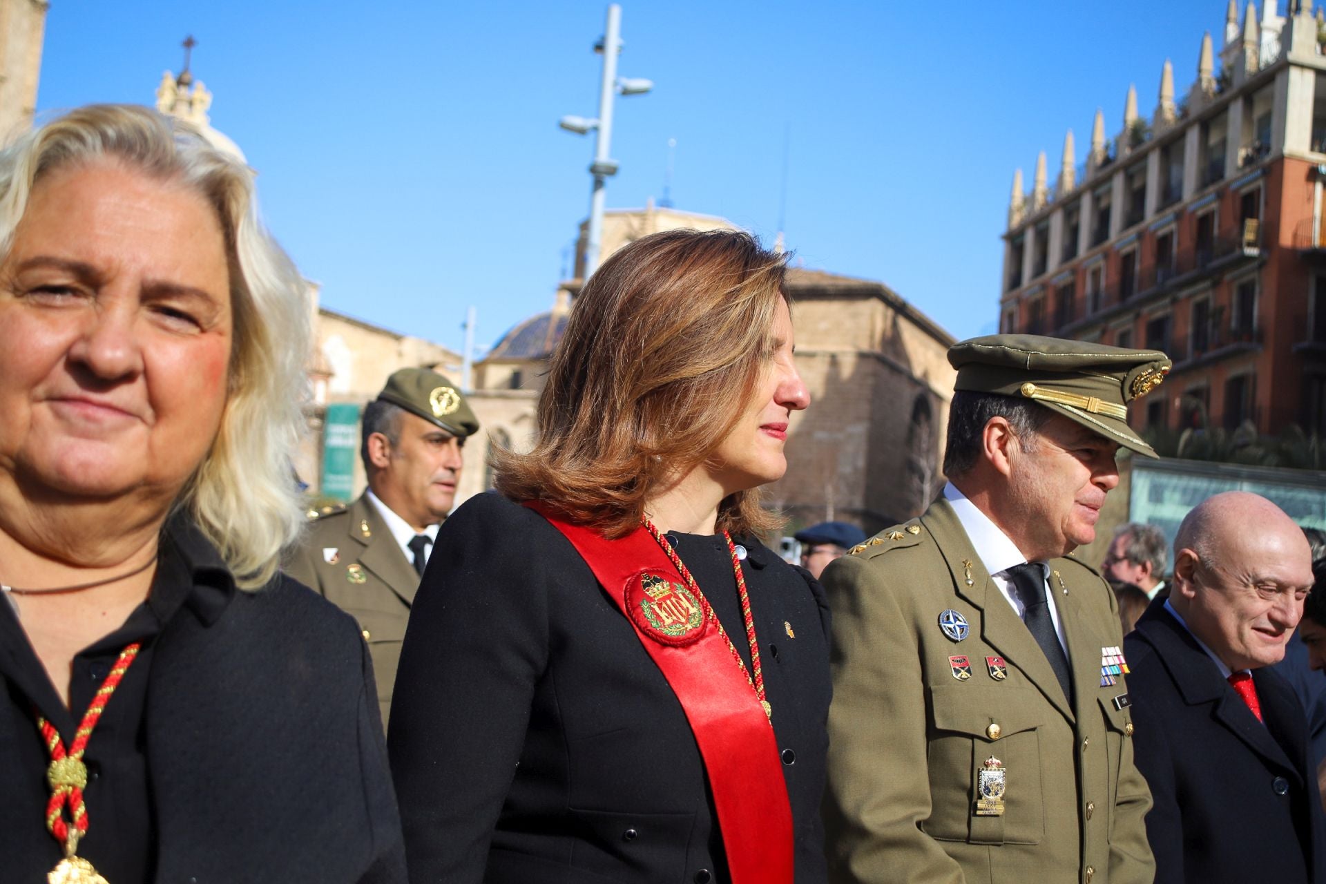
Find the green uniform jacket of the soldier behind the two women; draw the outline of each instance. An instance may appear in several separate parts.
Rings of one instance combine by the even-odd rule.
[[[359,622],[386,725],[410,604],[419,588],[419,575],[386,521],[366,496],[346,509],[318,513],[285,571]]]

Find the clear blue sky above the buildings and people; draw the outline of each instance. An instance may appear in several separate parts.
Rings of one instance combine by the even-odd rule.
[[[610,208],[663,191],[809,268],[880,280],[959,338],[994,330],[1013,170],[1050,183],[1069,127],[1113,137],[1130,82],[1150,115],[1166,58],[1181,97],[1224,0],[736,3],[625,0]],[[1284,4],[1282,4],[1284,5]],[[151,103],[194,34],[212,125],[259,170],[268,225],[324,305],[492,345],[546,310],[589,207],[607,4],[53,0],[38,111]]]

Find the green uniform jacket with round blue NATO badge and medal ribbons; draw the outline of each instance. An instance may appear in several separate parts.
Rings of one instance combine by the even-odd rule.
[[[1151,807],[1132,762],[1114,594],[1050,561],[1075,702],[985,573],[947,501],[825,571],[834,632],[825,824],[831,881],[1148,883]],[[953,641],[940,614],[961,614]],[[969,676],[963,676],[967,657]],[[987,657],[996,657],[987,661]],[[992,669],[1002,657],[1004,679]],[[1002,762],[1004,812],[977,815],[977,777]]]

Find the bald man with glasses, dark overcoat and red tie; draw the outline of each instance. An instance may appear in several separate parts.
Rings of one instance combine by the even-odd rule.
[[[1313,586],[1302,530],[1227,492],[1175,537],[1170,596],[1123,641],[1156,883],[1326,881],[1307,722],[1285,653]]]

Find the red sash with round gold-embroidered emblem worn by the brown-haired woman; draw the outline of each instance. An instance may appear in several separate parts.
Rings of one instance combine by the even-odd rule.
[[[792,806],[773,728],[708,622],[643,527],[619,541],[528,504],[572,542],[682,702],[719,812],[732,884],[792,884]]]

